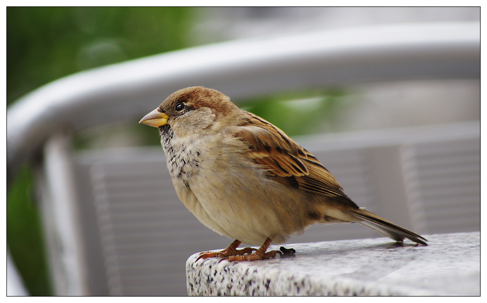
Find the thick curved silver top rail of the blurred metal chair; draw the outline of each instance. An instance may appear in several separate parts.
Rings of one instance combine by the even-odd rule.
[[[412,79],[480,78],[480,23],[370,26],[199,46],[83,71],[7,110],[7,180],[60,128],[138,120],[188,86],[239,101],[275,91]]]

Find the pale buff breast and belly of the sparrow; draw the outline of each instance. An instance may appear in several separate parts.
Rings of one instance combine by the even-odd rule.
[[[258,164],[245,159],[242,141],[169,133],[161,142],[178,196],[204,225],[255,245],[271,236],[282,242],[303,228],[300,199],[290,193],[294,189],[268,179]]]

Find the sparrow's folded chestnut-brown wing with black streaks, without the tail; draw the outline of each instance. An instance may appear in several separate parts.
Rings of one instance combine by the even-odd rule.
[[[277,182],[333,197],[358,208],[320,161],[264,119],[249,113],[232,134],[248,144],[248,156]]]

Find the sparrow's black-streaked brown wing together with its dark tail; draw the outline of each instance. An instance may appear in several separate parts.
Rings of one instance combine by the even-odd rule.
[[[360,222],[396,241],[408,238],[427,245],[426,239],[418,234],[359,208],[310,152],[264,119],[250,114],[232,134],[248,144],[248,156],[262,165],[269,177],[277,182],[332,197],[341,202],[342,212],[356,218],[350,221]]]

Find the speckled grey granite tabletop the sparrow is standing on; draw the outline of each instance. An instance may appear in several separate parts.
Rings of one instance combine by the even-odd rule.
[[[195,262],[194,254],[186,261],[188,294],[479,296],[480,232],[425,238],[428,246],[394,246],[388,238],[286,244],[294,256],[253,262]]]

